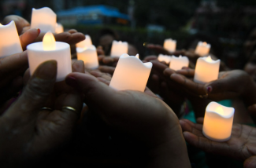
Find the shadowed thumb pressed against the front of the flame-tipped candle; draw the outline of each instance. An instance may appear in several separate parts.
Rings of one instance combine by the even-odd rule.
[[[13,121],[27,122],[35,119],[37,112],[54,89],[57,75],[56,60],[39,65],[15,104],[5,113]]]

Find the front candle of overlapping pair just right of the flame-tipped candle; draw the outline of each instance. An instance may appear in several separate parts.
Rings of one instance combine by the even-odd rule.
[[[98,68],[98,55],[95,46],[77,47],[77,60],[83,60],[84,68]]]

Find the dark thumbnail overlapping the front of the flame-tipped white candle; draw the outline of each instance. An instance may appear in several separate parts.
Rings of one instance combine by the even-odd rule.
[[[56,79],[57,75],[57,61],[48,60],[40,64],[35,70],[35,76],[39,79]]]

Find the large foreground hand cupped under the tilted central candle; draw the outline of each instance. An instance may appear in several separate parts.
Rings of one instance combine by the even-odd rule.
[[[151,158],[148,167],[191,167],[176,115],[150,90],[117,91],[80,73],[69,74],[66,82],[84,93],[88,108],[109,126],[143,141]]]

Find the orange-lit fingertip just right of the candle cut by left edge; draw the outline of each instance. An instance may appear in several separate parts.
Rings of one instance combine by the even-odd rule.
[[[23,50],[27,49],[27,46],[34,42],[35,38],[37,38],[40,34],[40,29],[32,28],[26,32],[24,32],[23,35],[20,35],[20,44],[22,46]]]

